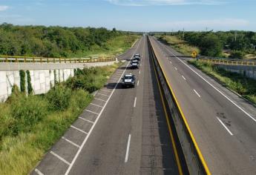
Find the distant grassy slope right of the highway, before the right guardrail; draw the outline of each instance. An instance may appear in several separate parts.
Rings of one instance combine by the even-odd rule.
[[[158,38],[160,38],[160,36],[158,36]],[[166,42],[166,44],[170,45],[183,55],[191,56],[191,53],[194,50],[197,51],[197,53],[200,53],[198,47],[187,44],[185,41],[179,39],[177,36],[162,36],[161,39],[163,40],[163,42]]]

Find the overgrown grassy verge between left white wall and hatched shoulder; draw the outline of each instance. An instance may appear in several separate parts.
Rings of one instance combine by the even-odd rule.
[[[76,76],[44,95],[26,96],[17,87],[0,103],[0,172],[29,174],[91,102],[119,64],[76,70]]]

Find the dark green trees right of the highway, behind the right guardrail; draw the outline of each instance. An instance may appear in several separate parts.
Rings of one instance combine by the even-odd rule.
[[[228,32],[185,32],[157,33],[162,36],[177,36],[187,44],[200,48],[204,56],[225,56],[223,50],[229,50],[229,58],[243,59],[245,54],[256,54],[256,33],[251,31]],[[184,37],[183,37],[184,36]]]

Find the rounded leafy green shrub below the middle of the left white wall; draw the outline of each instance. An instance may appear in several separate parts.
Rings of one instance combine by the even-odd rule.
[[[68,108],[71,90],[63,85],[56,85],[46,94],[49,110],[65,110]]]

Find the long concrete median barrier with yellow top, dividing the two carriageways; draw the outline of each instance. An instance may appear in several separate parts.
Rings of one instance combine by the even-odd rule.
[[[150,40],[151,39],[148,38],[149,50],[154,60],[154,65],[156,66],[157,73],[165,93],[165,99],[168,102],[168,108],[171,112],[170,117],[174,122],[174,127],[176,128],[177,136],[180,140],[180,145],[186,159],[188,171],[190,174],[211,174],[205,160],[203,159],[203,155],[197,146],[197,142],[191,133],[188,123],[186,122],[183,111],[181,110],[174,92],[171,89],[171,85],[168,83],[160,62],[157,60],[159,58],[157,58],[157,54],[154,51],[154,46],[151,44]]]

